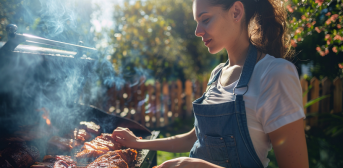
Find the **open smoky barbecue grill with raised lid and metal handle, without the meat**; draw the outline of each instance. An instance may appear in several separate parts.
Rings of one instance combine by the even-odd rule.
[[[117,116],[114,113],[104,112],[90,105],[78,103],[77,100],[69,102],[63,112],[51,113],[49,124],[42,123],[41,114],[34,108],[35,98],[43,94],[58,107],[62,104],[62,101],[58,100],[59,97],[56,96],[58,93],[43,89],[39,92],[41,95],[37,95],[38,92],[35,94],[35,91],[28,95],[18,95],[17,92],[11,89],[6,90],[6,87],[13,83],[15,83],[15,91],[31,87],[27,85],[27,79],[25,78],[28,75],[21,74],[28,73],[29,75],[34,74],[34,79],[38,82],[49,83],[48,87],[53,88],[61,82],[56,80],[54,75],[64,75],[64,68],[78,68],[82,72],[80,78],[85,78],[85,76],[89,76],[89,73],[92,73],[97,51],[94,48],[82,45],[19,34],[16,32],[16,28],[15,25],[8,25],[6,27],[8,41],[0,42],[0,72],[3,70],[10,71],[6,72],[5,77],[0,78],[0,88],[5,88],[0,89],[0,167],[6,167],[8,164],[12,164],[14,167],[32,165],[32,160],[17,162],[17,160],[25,160],[25,157],[21,158],[24,156],[23,153],[28,153],[36,162],[41,161],[45,155],[50,154],[47,147],[49,138],[53,135],[65,135],[67,132],[74,130],[81,121],[93,121],[100,125],[100,132],[102,133],[111,133],[116,127],[127,127],[135,135],[143,139],[157,138],[159,131],[150,131],[136,121]],[[32,44],[23,45],[21,44],[23,42],[48,45],[49,47]],[[53,69],[54,73],[52,73],[51,69]],[[56,73],[56,71],[61,71],[61,73]],[[18,75],[20,79],[18,79]],[[83,83],[80,83],[81,87],[76,91],[75,97],[80,97],[82,94],[82,87],[87,80],[83,79],[82,81]],[[54,111],[54,109],[48,110]],[[25,134],[25,136],[21,134]],[[24,147],[14,149],[16,144],[24,144]],[[61,154],[72,156],[77,152],[75,150]],[[138,156],[134,167],[153,167],[156,165],[156,151],[137,151]],[[14,153],[15,157],[7,156],[8,153],[6,152]],[[83,167],[86,165],[86,163],[81,163],[77,166]]]

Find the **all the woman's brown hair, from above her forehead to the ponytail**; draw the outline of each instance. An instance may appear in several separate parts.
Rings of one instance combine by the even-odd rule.
[[[220,5],[228,10],[237,0],[210,0],[212,5]],[[250,42],[260,52],[276,58],[290,59],[290,36],[287,29],[287,13],[281,0],[239,0],[245,9],[245,25]]]

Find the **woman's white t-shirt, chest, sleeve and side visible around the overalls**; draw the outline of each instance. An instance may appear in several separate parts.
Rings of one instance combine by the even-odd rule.
[[[223,64],[212,71],[211,78]],[[220,78],[205,94],[203,104],[235,100],[233,88],[238,80],[228,86],[222,86],[219,80]],[[299,76],[291,62],[267,54],[255,65],[248,87],[243,96],[248,129],[255,151],[264,167],[267,167],[270,161],[267,155],[272,147],[267,133],[305,118]],[[240,88],[236,89],[235,93],[243,94],[245,91],[246,88]]]

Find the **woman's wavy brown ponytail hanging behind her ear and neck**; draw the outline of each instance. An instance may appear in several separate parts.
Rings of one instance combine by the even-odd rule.
[[[280,0],[260,0],[256,5],[256,14],[250,20],[250,24],[256,23],[250,31],[250,41],[264,53],[290,58],[292,51],[283,3]]]

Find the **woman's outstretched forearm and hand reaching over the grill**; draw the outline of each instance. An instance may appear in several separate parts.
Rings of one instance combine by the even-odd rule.
[[[195,129],[190,132],[154,140],[140,140],[127,128],[118,127],[112,137],[122,145],[135,149],[162,150],[167,152],[189,152],[197,140]]]

